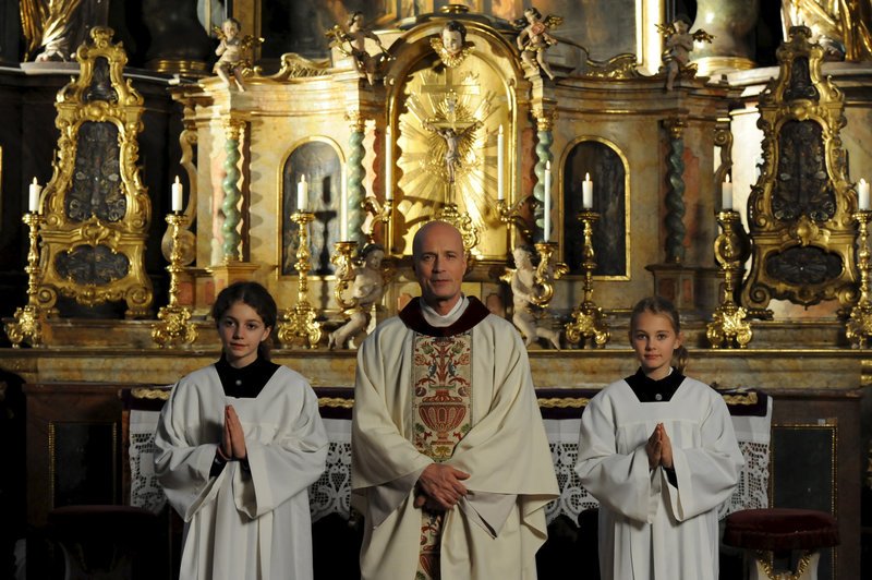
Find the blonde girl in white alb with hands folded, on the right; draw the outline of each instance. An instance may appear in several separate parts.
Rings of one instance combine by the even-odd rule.
[[[600,500],[604,580],[718,575],[717,508],[743,459],[723,397],[681,374],[679,324],[669,301],[639,302],[630,342],[641,366],[597,394],[581,418],[576,471]]]

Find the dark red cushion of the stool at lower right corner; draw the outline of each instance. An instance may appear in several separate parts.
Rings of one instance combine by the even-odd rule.
[[[744,509],[727,516],[724,543],[771,552],[816,551],[838,545],[838,523],[812,509]]]

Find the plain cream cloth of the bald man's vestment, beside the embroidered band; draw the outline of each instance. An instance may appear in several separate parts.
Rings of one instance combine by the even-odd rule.
[[[471,475],[463,481],[469,494],[443,523],[440,577],[533,579],[547,537],[545,506],[558,495],[548,440],[518,331],[469,301],[464,316],[483,312],[471,328],[472,426],[444,463]],[[420,311],[415,299],[400,316]],[[364,580],[414,580],[419,563],[422,510],[413,505],[414,486],[433,459],[412,444],[413,345],[422,328],[410,324],[386,321],[358,353],[351,483],[366,527]]]

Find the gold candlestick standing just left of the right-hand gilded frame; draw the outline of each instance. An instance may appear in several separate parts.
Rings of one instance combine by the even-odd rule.
[[[738,212],[718,212],[717,223],[720,226],[720,235],[715,240],[715,258],[724,274],[724,300],[712,313],[712,322],[707,325],[705,336],[713,349],[720,348],[722,345],[732,348],[734,343],[743,349],[754,334],[751,323],[748,322],[748,311],[736,303],[735,294],[736,279],[751,253],[750,242],[742,230]]]

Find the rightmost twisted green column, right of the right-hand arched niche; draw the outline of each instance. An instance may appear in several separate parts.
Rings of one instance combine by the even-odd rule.
[[[666,157],[666,179],[669,191],[666,192],[666,262],[681,264],[685,262],[685,153],[683,131],[686,123],[680,119],[665,122],[669,132],[669,155]]]

